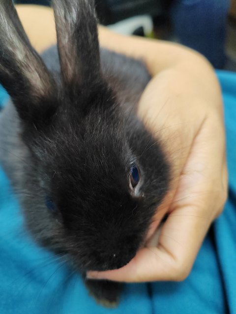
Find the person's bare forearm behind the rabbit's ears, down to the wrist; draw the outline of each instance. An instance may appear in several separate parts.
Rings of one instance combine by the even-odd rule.
[[[51,8],[20,5],[18,13],[38,51],[56,43]],[[103,26],[99,26],[99,40],[103,47],[142,58],[153,77],[160,74],[158,81],[166,79],[172,93],[219,103],[217,80],[209,63],[199,53],[174,43],[119,35]]]

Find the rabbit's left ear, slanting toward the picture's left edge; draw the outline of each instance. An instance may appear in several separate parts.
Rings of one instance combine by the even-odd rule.
[[[56,105],[56,84],[29,43],[12,0],[0,0],[0,83],[24,120]]]

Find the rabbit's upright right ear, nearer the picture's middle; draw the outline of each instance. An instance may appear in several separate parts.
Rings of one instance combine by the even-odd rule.
[[[100,73],[94,1],[53,0],[53,7],[64,87],[78,94],[96,84]]]

